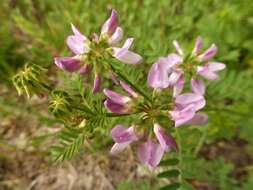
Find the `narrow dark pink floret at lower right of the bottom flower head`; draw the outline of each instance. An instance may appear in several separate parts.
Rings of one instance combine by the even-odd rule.
[[[154,124],[154,133],[164,151],[168,151],[170,148],[178,150],[175,139],[157,123]]]

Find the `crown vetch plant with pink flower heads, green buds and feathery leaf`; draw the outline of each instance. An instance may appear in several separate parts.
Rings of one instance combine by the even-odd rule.
[[[110,136],[115,142],[111,153],[119,153],[131,144],[141,163],[153,170],[165,153],[172,149],[181,152],[178,137],[174,137],[177,127],[208,123],[208,115],[201,111],[206,105],[203,79],[217,80],[218,72],[225,68],[223,63],[212,61],[216,45],[201,52],[202,39],[198,37],[188,53],[174,41],[177,53],[159,57],[152,64],[147,75],[148,90],[144,91],[122,69],[120,62],[135,67],[143,59],[130,50],[133,38],[119,45],[123,29],[115,10],[102,25],[100,35],[94,33],[89,38],[73,24],[71,27],[73,35],[66,42],[74,55],[55,57],[54,62],[78,76],[75,80],[79,92],[49,87],[44,69],[35,65],[26,66],[13,78],[19,94],[25,92],[30,97],[49,92],[49,111],[64,121],[60,145],[52,149],[55,160],[71,158],[85,139],[94,137],[95,130],[109,125],[107,121],[129,117],[131,123],[111,126]],[[86,75],[91,72],[94,81],[90,84],[85,78],[89,79]],[[103,85],[102,80],[106,81]]]

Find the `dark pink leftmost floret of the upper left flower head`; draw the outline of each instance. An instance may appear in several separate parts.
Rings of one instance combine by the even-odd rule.
[[[68,72],[77,71],[81,67],[81,62],[75,57],[55,57],[54,62],[59,68]]]

